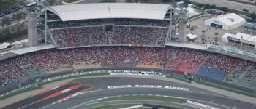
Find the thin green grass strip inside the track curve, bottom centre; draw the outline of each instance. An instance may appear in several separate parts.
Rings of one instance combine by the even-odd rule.
[[[104,100],[99,100],[99,102],[114,101],[114,100],[155,100],[155,101],[165,101],[165,102],[177,102],[183,103],[187,100],[181,98],[173,97],[155,97],[155,96],[127,96],[127,97],[111,97]]]

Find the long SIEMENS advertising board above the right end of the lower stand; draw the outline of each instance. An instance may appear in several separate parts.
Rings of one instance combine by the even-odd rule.
[[[254,53],[244,52],[244,51],[241,51],[241,50],[238,50],[238,49],[231,49],[231,48],[222,47],[222,46],[218,46],[218,45],[214,45],[214,44],[207,44],[207,48],[214,48],[214,49],[225,50],[225,51],[228,51],[228,52],[235,52],[235,53],[238,53],[238,54],[241,54],[241,55],[246,55],[246,56],[249,56],[249,57],[255,57],[256,58],[256,55]]]

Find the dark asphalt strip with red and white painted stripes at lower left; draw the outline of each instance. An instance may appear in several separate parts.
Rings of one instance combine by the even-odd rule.
[[[12,105],[7,105],[6,107],[4,107],[3,109],[14,109],[14,108],[24,108],[24,109],[31,109],[31,108],[41,108],[45,105],[48,105],[48,104],[51,104],[53,102],[56,102],[58,100],[61,100],[62,98],[64,97],[67,97],[69,96],[70,94],[74,94],[76,92],[80,92],[82,91],[83,89],[88,89],[90,88],[89,86],[79,86],[78,88],[76,89],[72,89],[70,90],[69,92],[65,92],[63,94],[59,94],[58,96],[56,97],[50,97],[51,95],[53,94],[56,94],[58,92],[61,92],[65,89],[69,89],[70,87],[72,86],[78,86],[79,84],[76,84],[76,83],[72,83],[70,82],[69,84],[67,85],[64,85],[64,86],[61,86],[57,89],[53,89],[49,92],[45,92],[45,93],[42,93],[42,94],[38,94],[38,95],[34,95],[32,97],[29,97],[29,98],[26,98],[24,100],[21,100],[19,102],[15,102],[13,103]],[[46,97],[49,97],[47,99],[45,99]]]

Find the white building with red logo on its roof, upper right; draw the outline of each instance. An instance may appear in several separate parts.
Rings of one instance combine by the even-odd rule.
[[[230,13],[226,15],[219,15],[211,19],[205,20],[206,26],[222,28],[223,30],[232,30],[244,25],[246,20],[235,13]]]

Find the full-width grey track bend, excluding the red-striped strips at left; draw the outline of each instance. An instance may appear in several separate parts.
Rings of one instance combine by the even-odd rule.
[[[200,102],[205,105],[211,105],[217,108],[241,108],[241,109],[253,109],[256,105],[235,100],[230,97],[225,97],[221,94],[206,91],[205,89],[198,89],[194,86],[187,86],[184,84],[178,84],[176,82],[161,81],[150,78],[126,78],[126,77],[108,77],[108,78],[86,78],[77,79],[82,84],[90,84],[94,86],[90,92],[80,94],[79,96],[72,97],[68,100],[58,102],[54,105],[50,105],[46,108],[72,108],[75,105],[79,105],[84,102],[91,100],[97,100],[102,97],[110,97],[116,95],[126,94],[159,94],[174,97],[184,97],[189,100]],[[119,88],[119,89],[107,89],[107,86],[118,86],[118,85],[162,85],[164,86],[179,86],[189,88],[189,91],[164,89],[164,88]]]

